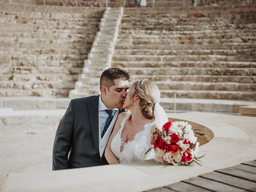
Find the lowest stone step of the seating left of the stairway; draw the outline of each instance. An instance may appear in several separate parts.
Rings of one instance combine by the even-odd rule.
[[[20,89],[1,89],[1,97],[30,97],[30,96],[40,96],[40,97],[67,97],[70,89],[30,89],[30,90],[20,90]]]

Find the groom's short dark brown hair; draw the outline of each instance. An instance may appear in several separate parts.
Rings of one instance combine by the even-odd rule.
[[[120,68],[112,67],[104,70],[100,76],[100,89],[102,86],[108,88],[108,91],[111,86],[115,85],[115,79],[129,80],[130,73],[126,72]]]

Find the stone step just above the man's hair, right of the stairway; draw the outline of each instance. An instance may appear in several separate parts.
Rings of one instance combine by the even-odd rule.
[[[113,67],[203,67],[203,68],[256,68],[256,62],[237,61],[112,61]]]

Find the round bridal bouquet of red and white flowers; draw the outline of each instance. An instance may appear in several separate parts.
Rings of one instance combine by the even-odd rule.
[[[173,121],[153,133],[155,161],[162,164],[191,165],[198,163],[199,142],[188,122]],[[201,157],[200,157],[201,158]],[[199,163],[198,163],[199,164]]]

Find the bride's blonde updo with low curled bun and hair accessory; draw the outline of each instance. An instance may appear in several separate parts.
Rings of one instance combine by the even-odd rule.
[[[160,91],[158,86],[147,79],[136,80],[129,89],[129,99],[135,94],[140,98],[140,109],[142,114],[148,119],[155,119],[155,104],[160,102]]]

